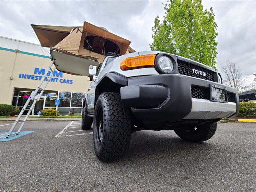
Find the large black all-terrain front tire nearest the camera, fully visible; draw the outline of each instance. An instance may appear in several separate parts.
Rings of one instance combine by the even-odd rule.
[[[130,145],[131,109],[121,101],[120,94],[101,93],[94,108],[93,143],[100,161],[122,157]]]

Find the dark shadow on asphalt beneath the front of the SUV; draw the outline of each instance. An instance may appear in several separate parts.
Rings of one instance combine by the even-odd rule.
[[[208,159],[212,153],[218,153],[219,148],[219,145],[213,144],[210,140],[201,143],[184,141],[173,131],[154,132],[154,134],[152,131],[140,131],[132,134],[127,154],[118,161],[120,163],[145,160],[159,161],[159,163],[172,161],[180,164],[189,159],[192,163],[198,162],[198,156],[200,159]]]

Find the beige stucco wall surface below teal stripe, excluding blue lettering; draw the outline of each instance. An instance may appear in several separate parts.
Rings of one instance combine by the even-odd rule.
[[[11,104],[14,88],[35,89],[40,82],[39,79],[19,78],[19,75],[42,76],[42,74],[34,74],[35,68],[47,69],[50,62],[50,59],[38,56],[0,50],[0,104]],[[12,80],[9,77],[12,77]],[[65,73],[62,77],[55,76],[54,78],[58,78],[57,82],[49,82],[46,90],[84,93],[91,83],[86,76],[74,76]],[[73,83],[61,83],[60,79],[62,81],[63,79],[73,80]]]

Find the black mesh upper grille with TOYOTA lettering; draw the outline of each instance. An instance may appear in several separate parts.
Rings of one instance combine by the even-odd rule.
[[[193,69],[205,72],[206,76],[202,76],[200,74],[193,73]],[[205,80],[214,82],[214,72],[213,71],[208,71],[201,67],[191,66],[186,63],[183,63],[180,60],[178,60],[178,72],[181,75],[196,77],[196,78],[205,79]]]

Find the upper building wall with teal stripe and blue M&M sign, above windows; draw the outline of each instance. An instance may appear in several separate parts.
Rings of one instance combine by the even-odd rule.
[[[14,52],[15,49],[20,53]],[[36,89],[51,62],[47,51],[37,44],[0,37],[0,104],[12,103],[14,88]],[[56,70],[46,90],[84,93],[90,83],[86,76]]]

